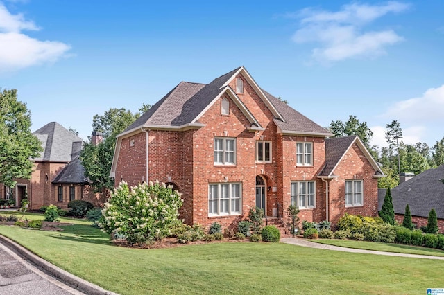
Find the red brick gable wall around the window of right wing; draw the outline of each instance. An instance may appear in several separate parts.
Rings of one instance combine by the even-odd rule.
[[[375,170],[370,165],[357,144],[343,157],[334,170],[338,178],[330,181],[330,221],[336,224],[339,218],[347,212],[353,215],[377,216],[377,179],[373,177]],[[345,181],[363,180],[364,205],[345,208]]]

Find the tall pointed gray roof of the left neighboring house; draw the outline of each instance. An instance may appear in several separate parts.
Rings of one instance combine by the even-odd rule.
[[[43,152],[34,161],[69,162],[80,152],[82,139],[56,122],[33,132],[42,142]],[[78,143],[74,144],[73,143]]]

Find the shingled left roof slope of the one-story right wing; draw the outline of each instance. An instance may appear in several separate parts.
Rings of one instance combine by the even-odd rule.
[[[356,139],[355,135],[325,139],[325,167],[319,176],[331,176],[336,165]]]

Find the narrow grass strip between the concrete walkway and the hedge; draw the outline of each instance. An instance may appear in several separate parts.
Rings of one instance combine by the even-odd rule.
[[[419,254],[419,255],[441,256],[441,257],[444,256],[443,250],[418,247],[413,245],[394,244],[394,243],[375,243],[375,242],[366,242],[366,241],[358,242],[355,240],[336,240],[336,239],[331,239],[331,240],[318,239],[311,241],[320,244],[329,244],[329,245],[354,248],[354,249],[365,249],[365,250],[374,250],[374,251],[408,253],[408,254]]]

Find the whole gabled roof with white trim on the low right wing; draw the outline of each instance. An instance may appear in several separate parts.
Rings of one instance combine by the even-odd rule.
[[[339,165],[345,154],[350,150],[353,144],[357,144],[364,156],[375,169],[375,177],[382,177],[384,173],[379,167],[378,163],[373,159],[370,152],[368,152],[364,143],[362,143],[359,136],[343,136],[325,139],[325,166],[318,177],[335,177],[334,170]]]

